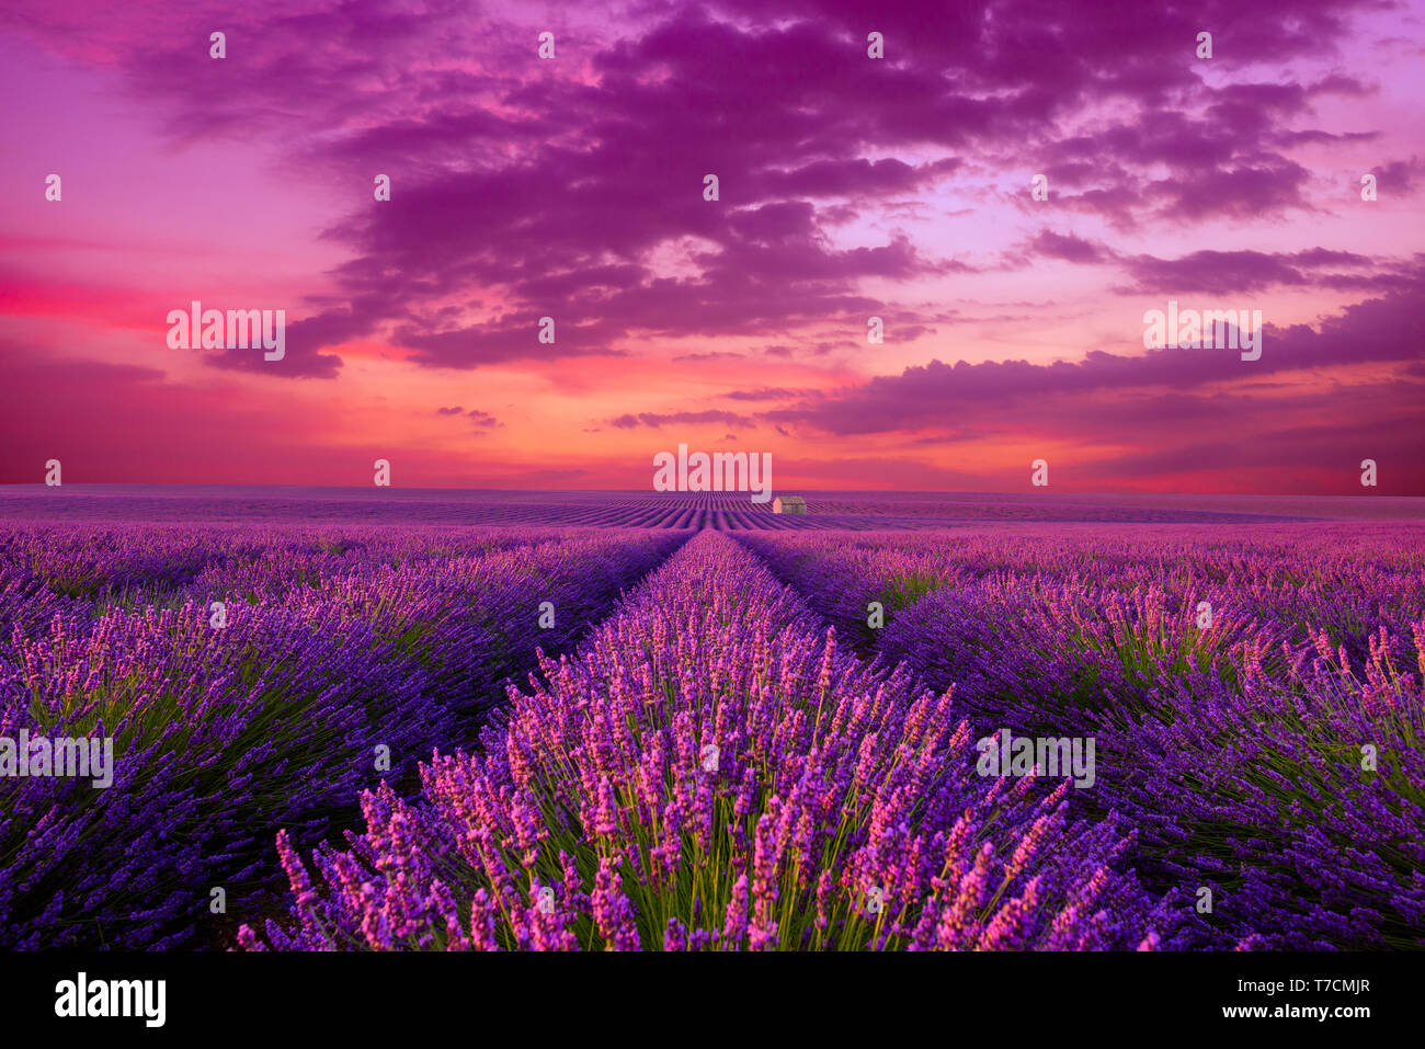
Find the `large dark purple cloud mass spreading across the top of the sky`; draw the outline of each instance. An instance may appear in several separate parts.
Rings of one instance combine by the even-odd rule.
[[[838,248],[828,228],[902,208],[960,175],[968,155],[990,165],[1037,157],[1059,205],[1119,225],[1304,208],[1308,172],[1278,148],[1312,134],[1300,124],[1314,98],[1369,88],[1342,74],[1214,86],[1193,41],[1211,26],[1214,68],[1237,76],[1251,63],[1330,54],[1361,7],[889,3],[869,19],[885,34],[885,61],[865,57],[869,14],[849,0],[646,7],[620,34],[580,40],[591,80],[512,61],[530,51],[523,27],[457,1],[419,13],[252,4],[224,20],[241,63],[197,67],[188,40],[215,24],[202,6],[161,37],[138,16],[86,33],[180,138],[241,128],[291,141],[288,162],[343,180],[393,171],[389,205],[326,231],[353,252],[335,274],[349,305],[291,325],[284,362],[214,358],[329,378],[341,361],[322,351],[376,334],[418,365],[467,369],[611,353],[631,336],[757,335],[864,316],[885,306],[859,294],[866,278],[901,284],[970,267],[898,229]],[[77,29],[51,6],[24,24],[61,48]],[[483,71],[430,61],[433,41]],[[1094,104],[1123,118],[1080,131],[1069,118]],[[717,202],[701,195],[708,172],[720,178]],[[1399,161],[1381,174],[1409,185]],[[654,252],[688,238],[704,245],[691,269],[660,275]],[[1054,232],[1036,247],[1073,262],[1109,251]],[[1287,269],[1268,277],[1292,282]],[[496,316],[472,321],[452,306],[486,292],[503,304]],[[554,346],[530,338],[527,318],[542,315],[570,321]],[[905,316],[902,336],[926,325]]]

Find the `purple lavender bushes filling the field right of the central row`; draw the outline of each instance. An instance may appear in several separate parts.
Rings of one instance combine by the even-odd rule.
[[[747,537],[976,731],[1094,738],[1083,811],[1139,832],[1214,946],[1425,946],[1418,526]],[[884,610],[876,624],[874,607]]]

